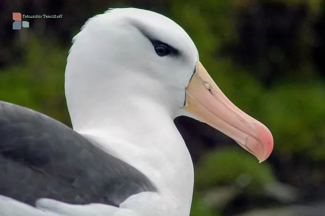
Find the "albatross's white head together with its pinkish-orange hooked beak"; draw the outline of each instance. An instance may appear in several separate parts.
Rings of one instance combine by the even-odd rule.
[[[88,20],[68,57],[66,96],[75,129],[83,127],[86,113],[121,111],[119,105],[138,97],[162,104],[171,118],[185,110],[260,161],[273,148],[270,131],[232,104],[207,74],[188,34],[154,12],[113,9]]]

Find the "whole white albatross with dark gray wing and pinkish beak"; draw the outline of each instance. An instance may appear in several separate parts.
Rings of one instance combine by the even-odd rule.
[[[73,129],[0,102],[1,216],[189,215],[194,174],[178,116],[260,162],[273,149],[271,132],[221,92],[188,34],[151,11],[90,18],[73,39],[65,92]]]

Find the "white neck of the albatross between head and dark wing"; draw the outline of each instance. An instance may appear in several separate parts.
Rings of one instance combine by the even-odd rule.
[[[97,85],[89,78],[91,88],[83,91],[75,86],[79,90],[68,90],[74,130],[137,168],[161,194],[171,196],[189,212],[193,166],[173,122],[175,111],[172,106],[166,107],[173,102],[169,101],[172,97],[154,79],[132,73],[128,76],[132,82],[127,85],[120,75]]]

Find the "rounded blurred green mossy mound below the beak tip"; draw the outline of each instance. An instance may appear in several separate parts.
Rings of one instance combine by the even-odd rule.
[[[242,181],[247,182],[245,187],[257,190],[275,181],[267,163],[258,163],[256,158],[239,148],[208,154],[198,164],[195,173],[195,185],[199,191],[218,185],[242,185]]]

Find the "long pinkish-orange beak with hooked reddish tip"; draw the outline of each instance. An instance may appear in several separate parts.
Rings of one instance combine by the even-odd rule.
[[[214,83],[201,62],[196,64],[196,71],[186,87],[183,108],[233,138],[259,162],[270,156],[273,150],[270,130],[238,109]]]

